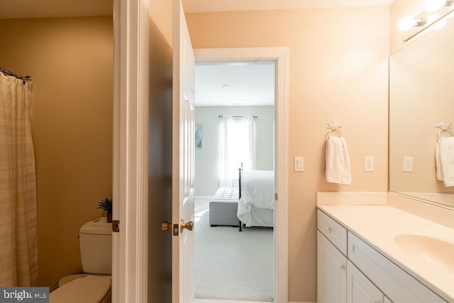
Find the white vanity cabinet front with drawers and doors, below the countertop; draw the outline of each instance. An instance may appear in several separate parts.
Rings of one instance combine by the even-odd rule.
[[[321,210],[317,228],[319,303],[447,303]]]

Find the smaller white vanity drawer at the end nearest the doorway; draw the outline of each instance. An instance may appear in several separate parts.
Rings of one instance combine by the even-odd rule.
[[[317,211],[317,228],[331,243],[347,255],[347,230],[323,211]]]

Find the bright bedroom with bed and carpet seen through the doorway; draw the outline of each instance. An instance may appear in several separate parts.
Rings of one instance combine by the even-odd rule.
[[[274,301],[275,68],[270,60],[196,63],[194,297],[200,302]]]

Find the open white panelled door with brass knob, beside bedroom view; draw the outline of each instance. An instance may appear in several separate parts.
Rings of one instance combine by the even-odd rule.
[[[172,302],[194,293],[194,53],[180,0],[173,1]]]

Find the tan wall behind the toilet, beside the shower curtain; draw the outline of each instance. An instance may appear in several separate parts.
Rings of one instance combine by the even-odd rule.
[[[0,20],[0,66],[33,77],[39,285],[81,272],[79,228],[112,194],[111,17]]]

